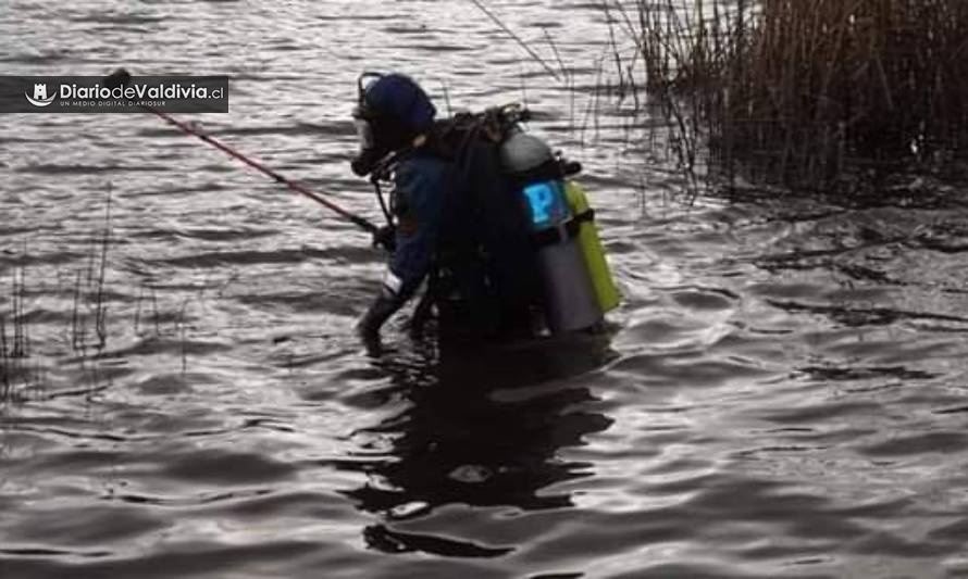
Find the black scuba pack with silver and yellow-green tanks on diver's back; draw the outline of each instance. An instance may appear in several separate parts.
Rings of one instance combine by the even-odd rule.
[[[520,123],[528,119],[512,104],[459,113],[429,131],[423,150],[454,163],[461,191],[446,211],[470,217],[442,227],[447,251],[432,284],[442,328],[454,310],[463,312],[455,319],[470,323],[472,333],[513,332],[521,322],[531,331],[530,314],[539,310],[550,331],[575,331],[600,323],[619,302],[593,212],[582,190],[564,180],[580,165],[525,134]],[[374,176],[388,174],[395,161]]]

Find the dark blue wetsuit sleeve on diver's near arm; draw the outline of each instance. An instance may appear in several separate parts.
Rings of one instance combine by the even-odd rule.
[[[438,165],[426,160],[410,161],[398,167],[394,179],[398,225],[389,270],[398,286],[390,289],[400,301],[413,295],[433,265],[446,194]]]

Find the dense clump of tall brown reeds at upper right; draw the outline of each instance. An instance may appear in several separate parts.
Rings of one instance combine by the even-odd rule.
[[[646,89],[692,166],[794,187],[941,168],[968,141],[965,0],[637,0]]]

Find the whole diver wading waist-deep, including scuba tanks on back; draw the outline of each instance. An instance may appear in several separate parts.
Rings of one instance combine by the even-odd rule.
[[[424,280],[411,329],[435,312],[446,339],[585,329],[618,303],[584,193],[564,180],[576,164],[523,133],[518,109],[437,121],[410,77],[364,73],[352,116],[351,167],[377,189],[388,224],[373,243],[390,253],[357,324],[364,341],[378,341]],[[382,181],[392,185],[388,204]]]

